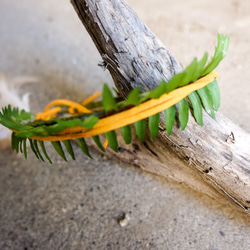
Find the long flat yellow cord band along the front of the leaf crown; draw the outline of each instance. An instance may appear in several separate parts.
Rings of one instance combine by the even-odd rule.
[[[103,134],[155,115],[173,106],[192,92],[205,87],[207,84],[213,82],[217,77],[219,77],[219,74],[212,71],[210,74],[198,79],[196,82],[175,89],[168,94],[163,94],[158,99],[151,99],[139,106],[100,119],[92,129],[84,129],[77,126],[74,128],[67,128],[58,135],[51,135],[47,137],[34,136],[31,138],[42,141],[63,141]]]

